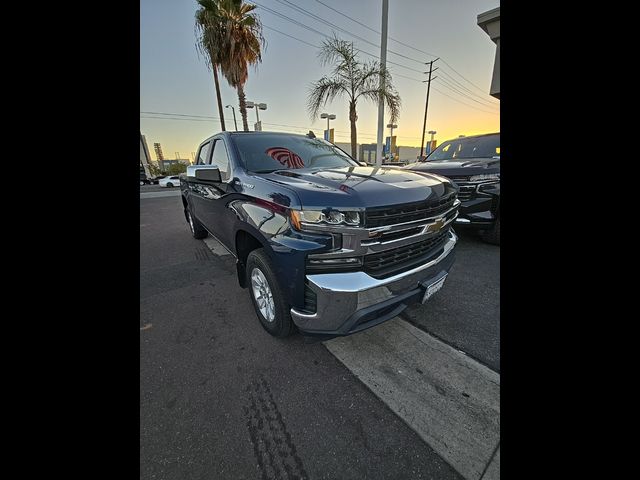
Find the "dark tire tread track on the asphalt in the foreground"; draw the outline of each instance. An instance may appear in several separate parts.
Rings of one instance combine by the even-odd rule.
[[[308,479],[266,380],[254,380],[245,391],[243,410],[262,480]]]

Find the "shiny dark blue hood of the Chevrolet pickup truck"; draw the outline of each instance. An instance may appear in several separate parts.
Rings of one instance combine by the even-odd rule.
[[[398,168],[343,167],[278,170],[262,178],[286,185],[303,208],[368,208],[435,200],[455,187],[440,177]]]

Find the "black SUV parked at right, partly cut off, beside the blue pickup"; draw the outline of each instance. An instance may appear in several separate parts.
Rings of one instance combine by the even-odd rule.
[[[452,180],[462,202],[455,223],[476,227],[485,241],[500,245],[500,133],[448,140],[405,168]]]

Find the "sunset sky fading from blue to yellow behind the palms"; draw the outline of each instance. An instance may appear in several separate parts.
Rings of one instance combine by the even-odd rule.
[[[264,25],[267,41],[262,63],[251,68],[245,86],[247,100],[268,105],[266,111],[260,111],[263,130],[306,133],[313,129],[321,136],[326,120],[309,118],[306,99],[310,84],[328,74],[330,68],[320,65],[317,48],[273,29],[312,45],[320,45],[324,38],[320,33],[332,35],[335,31],[339,37],[353,41],[362,52],[379,57],[380,48],[374,46],[380,44],[379,34],[323,4],[380,31],[382,0],[291,1],[374,45],[305,15],[285,0],[249,3],[259,5],[255,12]],[[263,6],[320,33],[279,17]],[[427,119],[427,130],[438,132],[438,142],[458,135],[500,131],[500,103],[488,94],[496,47],[477,25],[479,13],[498,6],[498,0],[389,0],[387,60],[395,64],[389,63],[388,68],[402,99],[398,129],[394,131],[398,145],[420,145],[426,96],[426,84],[421,80],[427,78],[421,73],[427,68],[421,62],[435,58],[424,52],[441,58],[434,64],[439,67],[434,74],[438,78],[432,82]],[[196,9],[195,0],[141,0],[140,3],[140,130],[146,136],[153,159],[154,142],[162,144],[165,158],[174,158],[176,152],[182,158],[191,158],[191,152],[196,151],[203,139],[221,129],[218,120],[206,118],[217,118],[218,108],[212,74],[196,52]],[[365,61],[374,57],[360,53],[360,58]],[[238,126],[242,129],[236,91],[222,77],[220,80],[223,104],[235,107]],[[347,101],[338,98],[323,111],[337,115],[331,122],[336,130],[335,141],[348,142]],[[253,130],[255,111],[248,110],[248,115]],[[358,117],[358,143],[375,143],[377,105],[360,101]],[[227,130],[233,130],[230,108],[225,109],[225,121]],[[385,117],[385,125],[387,123]],[[388,134],[385,128],[385,136]]]

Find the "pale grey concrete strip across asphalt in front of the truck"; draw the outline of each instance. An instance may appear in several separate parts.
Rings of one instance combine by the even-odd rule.
[[[500,441],[499,374],[399,318],[325,346],[465,479],[480,479]],[[500,478],[499,462],[483,480]]]

